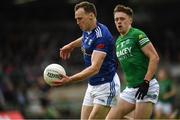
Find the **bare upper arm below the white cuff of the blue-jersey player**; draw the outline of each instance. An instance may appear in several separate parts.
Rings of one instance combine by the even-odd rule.
[[[91,57],[91,65],[96,69],[100,69],[101,65],[106,57],[106,53],[102,51],[94,50]]]

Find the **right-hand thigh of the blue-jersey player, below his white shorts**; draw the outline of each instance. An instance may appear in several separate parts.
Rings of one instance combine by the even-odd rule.
[[[105,119],[110,109],[110,106],[94,104],[89,119]]]

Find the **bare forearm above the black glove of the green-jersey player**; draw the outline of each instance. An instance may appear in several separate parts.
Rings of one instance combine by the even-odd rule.
[[[154,74],[157,70],[158,63],[159,63],[159,56],[158,55],[154,55],[154,56],[150,57],[148,70],[147,70],[147,73],[144,77],[145,80],[151,80],[152,79],[152,77],[154,76]]]

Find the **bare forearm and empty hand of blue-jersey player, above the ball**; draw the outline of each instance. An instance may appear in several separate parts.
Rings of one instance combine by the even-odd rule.
[[[81,46],[82,37],[74,40],[73,42],[65,45],[64,47],[60,48],[59,55],[63,60],[66,60],[70,57],[71,52],[74,48]]]

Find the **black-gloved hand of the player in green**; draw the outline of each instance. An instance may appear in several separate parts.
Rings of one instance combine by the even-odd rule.
[[[149,81],[148,80],[144,80],[143,83],[141,83],[139,89],[136,92],[135,98],[139,99],[143,99],[145,95],[147,95],[149,89]]]

